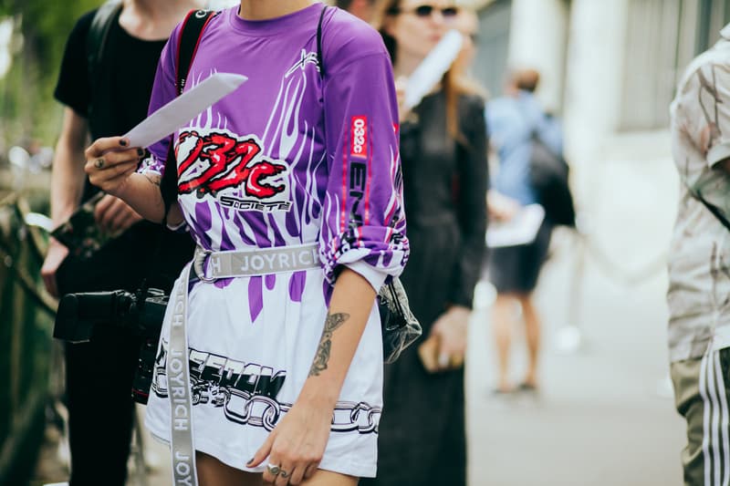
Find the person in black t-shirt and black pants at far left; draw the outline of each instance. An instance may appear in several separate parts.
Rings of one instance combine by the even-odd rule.
[[[97,10],[78,19],[68,36],[55,91],[65,107],[51,177],[51,216],[56,225],[98,192],[84,174],[89,137],[125,133],[147,116],[155,68],[167,37],[187,12],[202,6],[194,0],[120,2],[107,17],[108,34],[91,71],[88,55],[97,46],[89,45],[93,34],[89,32]],[[51,295],[134,291],[148,275],[155,277],[151,284],[170,290],[193,255],[187,234],[166,232],[164,251],[155,257],[160,226],[142,222],[126,203],[110,195],[96,204],[95,217],[101,228],[120,236],[89,258],[69,254],[66,246],[51,238],[41,269]],[[66,346],[71,486],[126,481],[134,410],[130,390],[140,345],[129,331],[107,325],[96,326],[91,342]]]

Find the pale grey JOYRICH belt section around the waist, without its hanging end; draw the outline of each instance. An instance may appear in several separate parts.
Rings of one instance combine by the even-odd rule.
[[[193,270],[203,282],[219,278],[281,274],[318,268],[317,243],[298,246],[212,252],[195,248]]]

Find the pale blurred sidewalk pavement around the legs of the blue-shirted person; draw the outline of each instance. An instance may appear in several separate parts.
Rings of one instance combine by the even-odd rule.
[[[470,329],[467,417],[471,486],[680,486],[683,420],[666,377],[661,275],[617,288],[588,264],[580,289],[583,338],[558,347],[565,324],[568,255],[546,268],[537,295],[544,315],[537,396],[495,398],[495,353],[487,309]],[[517,333],[516,381],[524,369]]]

